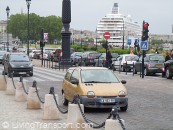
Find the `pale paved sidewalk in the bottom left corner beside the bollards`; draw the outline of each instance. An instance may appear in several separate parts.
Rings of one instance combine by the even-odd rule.
[[[60,113],[58,120],[43,120],[43,109],[27,109],[26,103],[0,91],[0,130],[62,130],[57,127],[66,123],[67,114]]]

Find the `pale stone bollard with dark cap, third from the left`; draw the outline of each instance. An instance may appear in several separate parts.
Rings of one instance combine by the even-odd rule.
[[[25,92],[23,90],[24,86],[22,86],[23,85],[22,80],[23,80],[23,78],[20,77],[19,82],[17,82],[17,84],[16,84],[15,101],[18,101],[18,102],[23,102],[23,101],[27,100],[27,95],[25,94]]]

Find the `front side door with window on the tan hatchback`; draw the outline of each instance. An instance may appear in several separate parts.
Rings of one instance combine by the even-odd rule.
[[[69,101],[73,101],[74,95],[77,94],[78,85],[71,83],[72,80],[79,81],[79,74],[78,74],[78,70],[76,70],[76,69],[72,72],[70,82],[68,85]]]

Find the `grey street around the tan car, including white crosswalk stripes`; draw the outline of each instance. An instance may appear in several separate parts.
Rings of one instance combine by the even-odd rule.
[[[3,66],[0,65],[2,72]],[[27,86],[32,86],[33,80],[37,81],[40,95],[44,97],[49,93],[51,86],[59,95],[61,102],[61,85],[65,71],[34,67],[33,77],[24,77]],[[132,75],[115,71],[128,90],[129,108],[127,112],[119,111],[120,117],[125,120],[127,130],[173,130],[173,79],[162,78],[161,75],[140,78],[139,74]],[[19,77],[14,77],[19,80]],[[85,114],[88,119],[100,124],[104,122],[110,109],[88,109]],[[100,129],[100,130],[103,130]]]

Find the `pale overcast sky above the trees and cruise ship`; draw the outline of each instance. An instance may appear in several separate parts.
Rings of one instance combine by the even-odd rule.
[[[114,3],[119,4],[120,13],[131,15],[142,25],[149,23],[151,34],[172,34],[173,0],[71,0],[70,27],[95,31],[97,23],[111,13]],[[26,0],[0,0],[0,20],[6,20],[6,7],[10,14],[27,13]],[[31,0],[30,12],[40,16],[62,16],[62,0]]]

